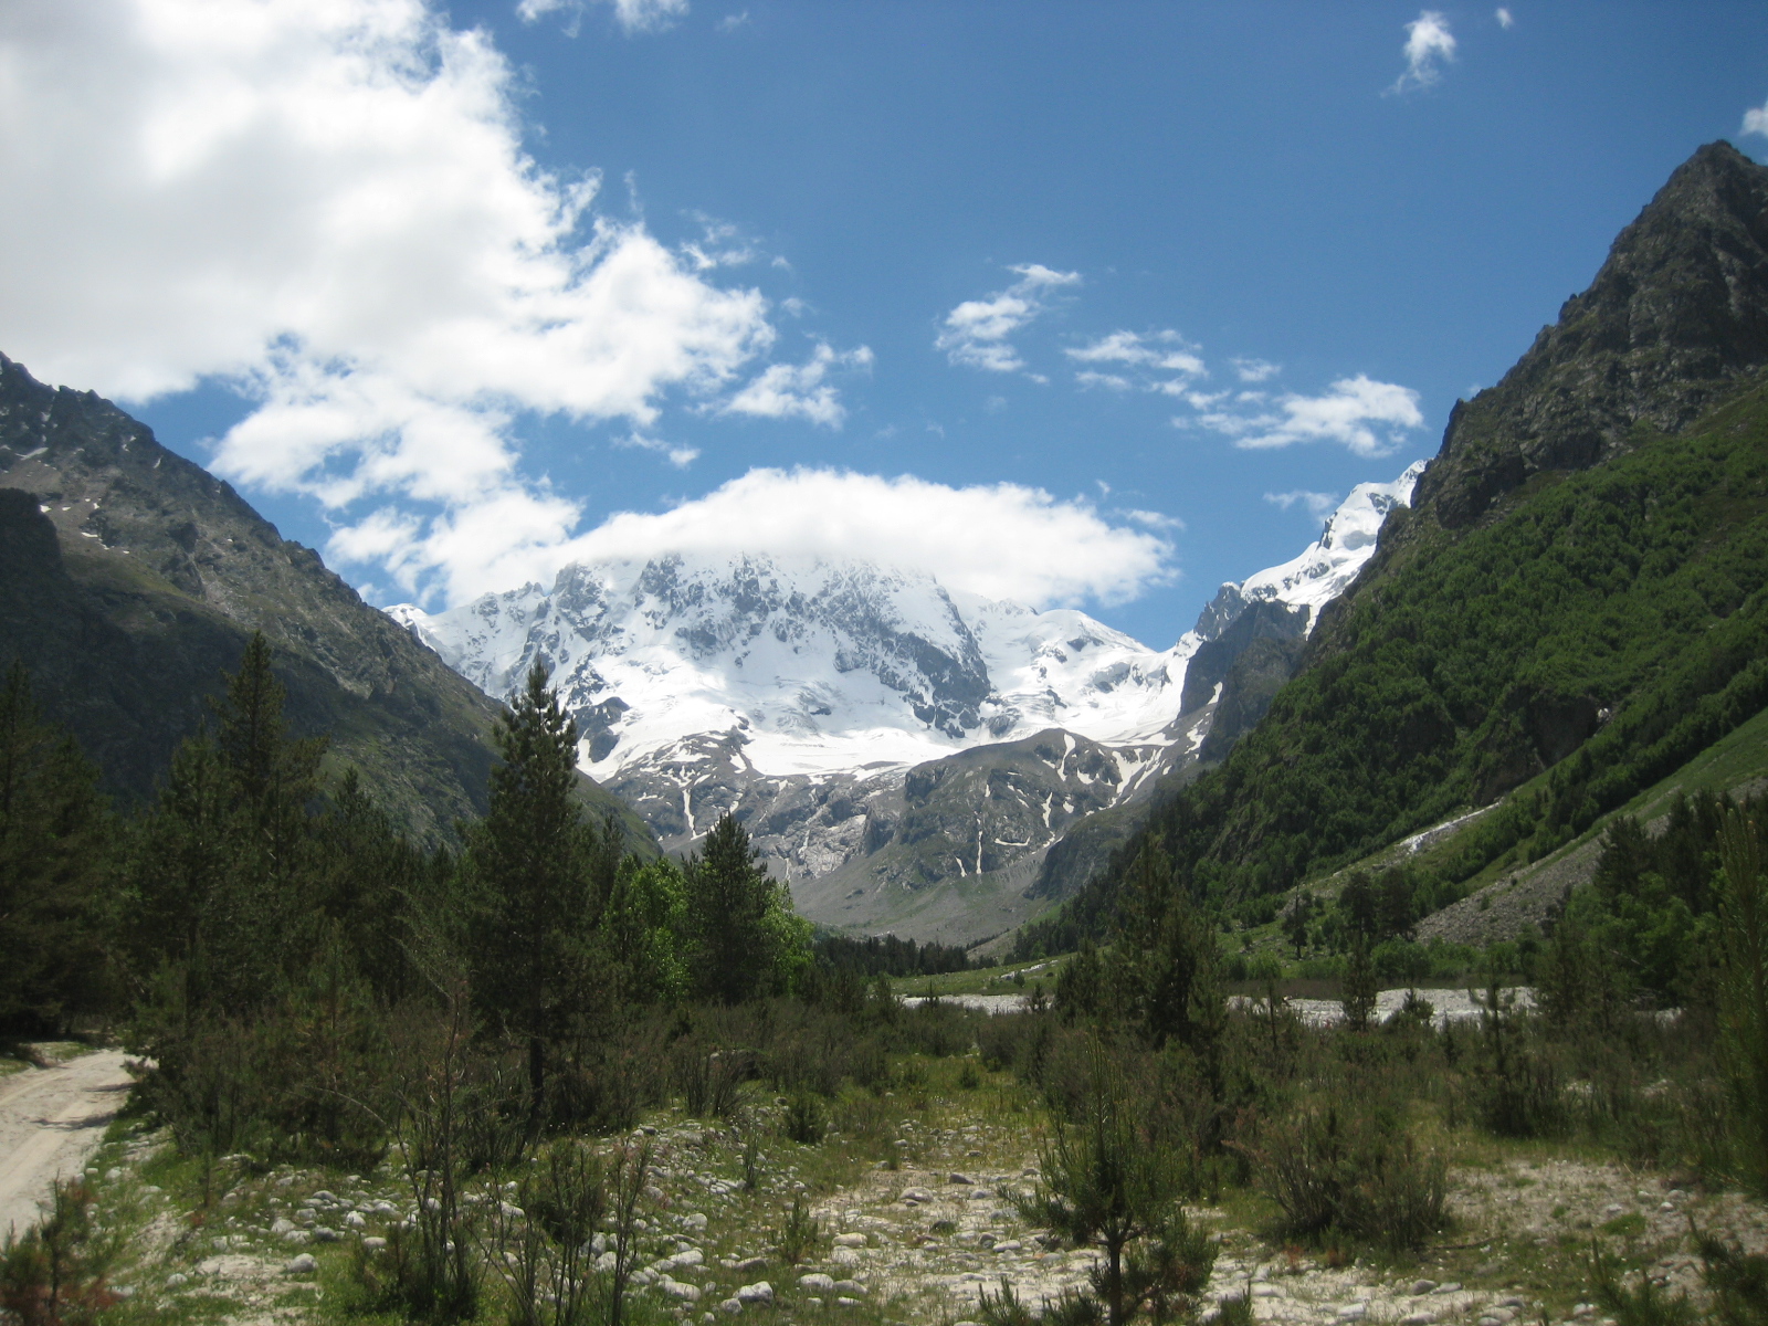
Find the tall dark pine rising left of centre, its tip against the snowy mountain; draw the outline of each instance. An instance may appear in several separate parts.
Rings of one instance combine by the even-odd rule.
[[[576,723],[559,707],[539,661],[499,721],[497,751],[490,812],[470,831],[465,861],[479,916],[474,995],[488,1020],[527,1048],[537,1128],[548,1043],[587,999],[582,964],[596,852],[596,834],[573,799]]]

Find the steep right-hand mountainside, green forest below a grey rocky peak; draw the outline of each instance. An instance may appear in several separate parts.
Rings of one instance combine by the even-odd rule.
[[[1559,327],[1457,410],[1418,506],[1259,727],[1027,944],[1096,930],[1147,836],[1193,893],[1234,903],[1551,769],[1460,868],[1543,854],[1754,716],[1764,327],[1768,170],[1701,149]]]

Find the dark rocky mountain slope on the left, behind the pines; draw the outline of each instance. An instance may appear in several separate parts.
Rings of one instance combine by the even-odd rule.
[[[92,392],[0,355],[0,668],[141,801],[263,631],[297,730],[325,732],[396,822],[444,840],[484,812],[499,704],[228,484]],[[649,831],[591,780],[635,845]]]

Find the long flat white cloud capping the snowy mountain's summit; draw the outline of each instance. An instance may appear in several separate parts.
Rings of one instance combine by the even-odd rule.
[[[1165,539],[1112,525],[1089,502],[1057,500],[1040,488],[757,469],[672,511],[613,514],[497,587],[546,580],[566,560],[693,552],[863,559],[1036,606],[1119,603],[1172,578]]]

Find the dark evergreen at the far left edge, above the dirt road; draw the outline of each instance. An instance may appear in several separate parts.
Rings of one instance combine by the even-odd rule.
[[[14,663],[0,688],[0,1031],[55,1031],[106,1002],[111,838],[97,769],[42,721]]]

